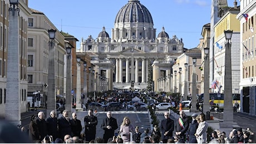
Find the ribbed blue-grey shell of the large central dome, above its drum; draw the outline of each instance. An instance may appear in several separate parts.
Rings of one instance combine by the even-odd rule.
[[[153,19],[149,10],[138,0],[129,0],[117,13],[115,23],[151,23]]]

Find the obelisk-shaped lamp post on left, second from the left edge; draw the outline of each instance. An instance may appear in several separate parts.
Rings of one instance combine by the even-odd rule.
[[[52,110],[56,111],[56,87],[55,87],[55,33],[50,29],[49,33],[49,56],[48,56],[48,96],[46,104],[46,115],[50,116]]]

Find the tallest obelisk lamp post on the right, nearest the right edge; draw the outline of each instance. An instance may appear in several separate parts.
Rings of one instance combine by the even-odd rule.
[[[233,30],[224,30],[225,43],[225,76],[224,76],[224,111],[221,127],[233,125],[233,101],[232,101],[232,63],[231,63],[231,38]]]

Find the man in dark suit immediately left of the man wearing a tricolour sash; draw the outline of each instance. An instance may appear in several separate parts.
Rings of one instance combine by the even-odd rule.
[[[169,112],[164,113],[164,120],[161,120],[161,138],[163,143],[167,143],[169,138],[173,137],[174,121],[170,119]]]

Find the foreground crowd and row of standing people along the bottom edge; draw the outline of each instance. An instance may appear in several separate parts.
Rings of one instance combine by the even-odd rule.
[[[159,126],[154,125],[152,131],[144,128],[143,132],[139,126],[134,127],[127,116],[119,126],[111,111],[107,111],[106,117],[101,121],[101,129],[104,131],[102,137],[96,137],[98,119],[92,110],[88,110],[83,122],[84,131],[76,112],[72,113],[70,119],[67,110],[64,110],[59,118],[56,117],[55,111],[51,111],[50,117],[47,118],[44,112],[40,111],[37,115],[31,116],[27,131],[25,127],[18,125],[22,135],[29,137],[23,137],[24,141],[18,143],[255,143],[254,133],[250,128],[231,130],[228,137],[224,131],[214,130],[209,133],[205,114],[195,113],[191,115],[190,120],[184,110],[179,111],[177,120],[170,119],[169,112],[164,112],[164,119],[160,121]],[[4,125],[0,122],[0,128],[1,126]],[[3,137],[6,138],[0,132],[0,141],[10,142],[3,141]]]

